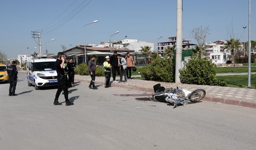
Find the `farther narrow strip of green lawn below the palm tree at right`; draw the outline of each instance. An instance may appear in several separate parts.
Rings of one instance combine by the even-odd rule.
[[[248,67],[236,67],[235,72],[233,67],[218,67],[217,73],[242,73],[248,72]],[[251,67],[251,72],[256,72],[256,67]]]

